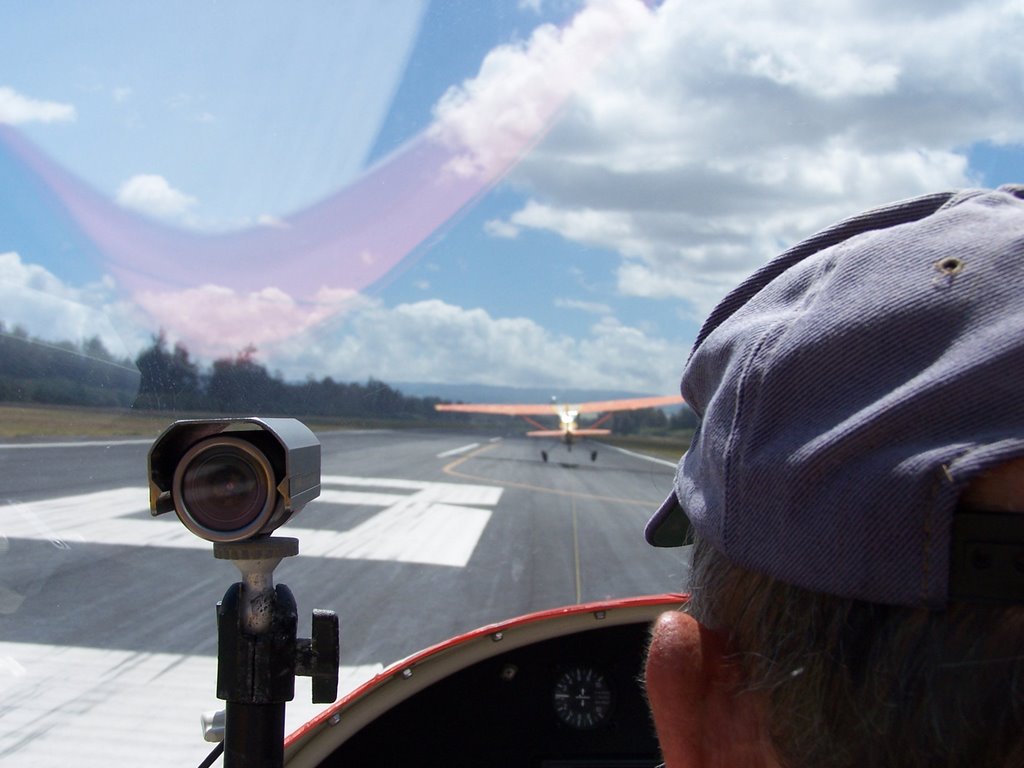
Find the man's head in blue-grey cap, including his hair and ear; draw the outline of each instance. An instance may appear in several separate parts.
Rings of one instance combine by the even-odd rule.
[[[1024,186],[786,251],[708,318],[655,546],[673,766],[1024,765]]]

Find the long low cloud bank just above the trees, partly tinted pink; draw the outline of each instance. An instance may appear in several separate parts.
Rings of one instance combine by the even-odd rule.
[[[571,300],[566,305],[599,308]],[[0,307],[8,329],[19,325],[47,340],[98,336],[118,356],[134,357],[160,328],[205,365],[252,343],[268,368],[292,380],[311,373],[339,381],[373,376],[395,383],[672,392],[686,352],[609,316],[572,338],[526,317],[495,317],[437,299],[386,307],[327,289],[315,301],[300,302],[276,288],[240,293],[202,286],[140,294],[129,304],[118,299],[110,279],[70,286],[16,253],[0,254]]]

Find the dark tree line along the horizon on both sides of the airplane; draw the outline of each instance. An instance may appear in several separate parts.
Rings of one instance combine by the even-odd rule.
[[[439,414],[439,397],[402,394],[382,381],[339,382],[327,376],[287,382],[270,374],[246,347],[202,368],[180,342],[161,332],[134,359],[117,357],[98,337],[52,342],[0,322],[0,401],[102,406],[177,414],[261,414],[340,419],[401,419],[497,424],[496,417]],[[611,428],[632,433],[688,426],[648,409],[615,414]],[[507,426],[507,424],[505,425]]]

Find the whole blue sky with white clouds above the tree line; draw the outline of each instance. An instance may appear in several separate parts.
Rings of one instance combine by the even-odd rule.
[[[1024,181],[1021,39],[1020,0],[0,4],[0,321],[673,392],[774,254]]]

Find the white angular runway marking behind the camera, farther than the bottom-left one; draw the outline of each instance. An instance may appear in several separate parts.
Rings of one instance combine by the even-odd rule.
[[[325,488],[313,505],[383,510],[348,530],[290,525],[283,535],[298,538],[303,555],[346,560],[464,567],[490,519],[492,511],[481,507],[494,507],[502,496],[502,488],[494,485],[388,477],[330,475],[322,482],[358,489]],[[369,487],[412,493],[375,493]],[[85,544],[210,550],[209,542],[189,534],[173,515],[139,519],[139,513],[150,509],[148,493],[141,487],[8,504],[0,509],[4,512],[0,539],[43,541],[58,550]]]

